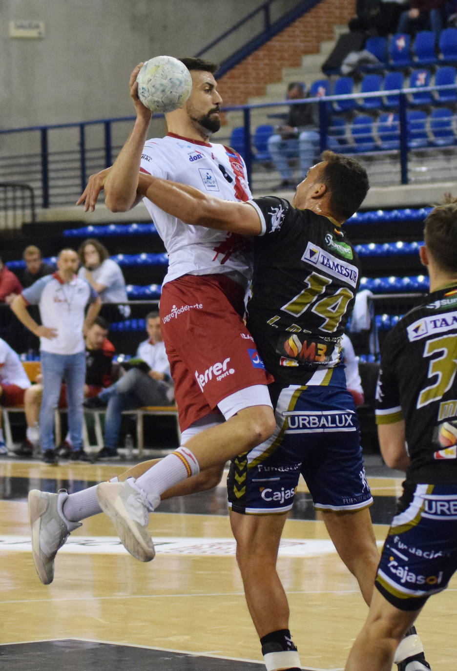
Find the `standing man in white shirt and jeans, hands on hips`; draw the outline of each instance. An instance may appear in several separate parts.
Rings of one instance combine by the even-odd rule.
[[[19,321],[40,337],[43,378],[40,445],[43,461],[47,464],[56,463],[54,409],[58,405],[62,380],[66,383],[72,459],[86,459],[83,451],[84,333],[97,317],[101,300],[87,280],[76,276],[78,264],[79,258],[74,250],[62,250],[57,258],[57,271],[34,282],[11,303]],[[42,325],[32,318],[28,305],[39,306]]]

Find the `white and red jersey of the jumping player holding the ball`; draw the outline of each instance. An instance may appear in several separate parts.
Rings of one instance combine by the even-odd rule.
[[[188,140],[174,134],[152,138],[144,145],[140,169],[223,200],[251,198],[244,160],[221,144]],[[246,289],[252,276],[250,244],[246,238],[187,225],[147,198],[144,204],[168,252],[168,272],[163,284],[188,273],[224,273]]]

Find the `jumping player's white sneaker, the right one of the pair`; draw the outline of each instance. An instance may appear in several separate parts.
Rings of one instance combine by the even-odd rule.
[[[101,482],[97,499],[101,509],[111,517],[125,550],[140,562],[150,562],[156,554],[148,531],[149,513],[160,503],[157,495],[146,495],[136,488],[132,478],[125,482]]]

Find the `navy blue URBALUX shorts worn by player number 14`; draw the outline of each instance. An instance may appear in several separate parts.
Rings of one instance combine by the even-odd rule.
[[[300,474],[316,509],[358,510],[372,503],[346,386],[285,387],[275,416],[276,430],[268,441],[230,465],[227,489],[234,512],[287,512]]]

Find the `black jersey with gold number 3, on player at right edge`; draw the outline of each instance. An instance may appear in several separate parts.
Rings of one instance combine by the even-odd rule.
[[[405,420],[416,483],[457,482],[457,285],[421,300],[387,334],[376,423]]]

